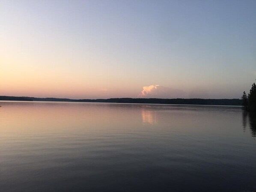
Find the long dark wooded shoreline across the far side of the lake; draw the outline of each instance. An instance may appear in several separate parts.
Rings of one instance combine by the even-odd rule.
[[[241,99],[158,99],[158,98],[110,98],[110,99],[67,99],[0,96],[0,100],[14,101],[68,101],[68,102],[97,102],[97,103],[142,103],[142,104],[180,104],[180,105],[232,105],[241,106]]]

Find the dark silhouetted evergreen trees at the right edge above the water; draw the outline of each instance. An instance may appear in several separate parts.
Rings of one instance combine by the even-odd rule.
[[[256,112],[256,84],[253,83],[250,89],[250,93],[242,95],[242,105],[246,111]]]

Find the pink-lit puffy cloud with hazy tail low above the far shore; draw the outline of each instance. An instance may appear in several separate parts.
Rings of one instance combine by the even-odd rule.
[[[151,85],[144,86],[142,92],[138,95],[142,98],[184,98],[186,92],[180,89],[172,89],[169,87]]]

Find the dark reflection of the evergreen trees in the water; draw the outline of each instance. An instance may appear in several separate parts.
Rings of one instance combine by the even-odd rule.
[[[249,118],[249,123],[247,119]],[[256,113],[253,112],[243,112],[243,129],[246,130],[247,127],[250,128],[250,133],[253,137],[256,137]]]

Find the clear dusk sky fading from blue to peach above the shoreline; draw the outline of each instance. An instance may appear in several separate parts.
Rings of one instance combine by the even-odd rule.
[[[255,0],[0,0],[0,95],[240,98]]]

